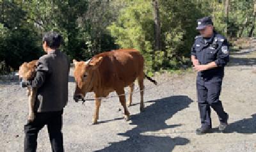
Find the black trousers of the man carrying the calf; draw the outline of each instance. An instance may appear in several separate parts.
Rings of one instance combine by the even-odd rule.
[[[24,151],[36,151],[38,132],[47,125],[52,151],[63,150],[62,128],[63,110],[57,112],[36,112],[35,119],[24,126]]]

